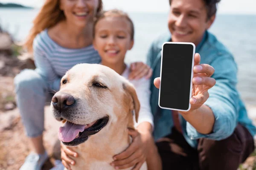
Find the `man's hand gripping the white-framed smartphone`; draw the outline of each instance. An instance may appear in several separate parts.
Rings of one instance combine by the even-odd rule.
[[[214,73],[214,68],[208,64],[200,64],[200,55],[195,54],[195,65],[193,68],[194,75],[192,79],[192,98],[189,100],[191,108],[188,112],[180,113],[191,113],[200,108],[204,102],[209,98],[208,90],[212,88],[216,80],[211,78]],[[160,77],[154,79],[154,85],[156,88],[160,86]],[[171,97],[171,96],[170,96]]]

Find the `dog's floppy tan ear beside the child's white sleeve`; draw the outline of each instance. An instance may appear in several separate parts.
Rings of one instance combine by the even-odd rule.
[[[124,90],[131,95],[131,98],[132,98],[132,103],[133,105],[130,107],[131,108],[131,111],[134,111],[135,112],[135,119],[136,119],[136,122],[138,122],[138,117],[139,117],[139,111],[140,111],[140,102],[139,102],[139,99],[138,99],[138,96],[136,94],[136,91],[135,91],[135,88],[134,86],[129,83],[129,82],[124,82],[123,83],[123,88]]]

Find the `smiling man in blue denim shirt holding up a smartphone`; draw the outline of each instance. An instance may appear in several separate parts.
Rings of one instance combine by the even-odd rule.
[[[171,35],[161,36],[148,52],[147,63],[153,69],[154,139],[163,170],[237,170],[254,150],[256,128],[236,90],[236,63],[227,48],[207,31],[215,20],[219,1],[169,0]],[[215,69],[214,74],[194,74],[193,90],[197,93],[192,94],[189,112],[158,106],[161,47],[166,41],[193,42],[201,55],[195,55],[195,63],[202,66],[194,67],[194,71],[211,69],[209,65]],[[214,86],[210,77],[216,80]]]

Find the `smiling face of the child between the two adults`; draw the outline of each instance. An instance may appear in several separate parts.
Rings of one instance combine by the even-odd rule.
[[[105,17],[96,24],[93,45],[102,61],[112,64],[123,61],[133,43],[131,24],[125,17]]]

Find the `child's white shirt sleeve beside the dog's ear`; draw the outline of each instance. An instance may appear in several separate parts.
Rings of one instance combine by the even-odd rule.
[[[138,122],[135,123],[135,127],[137,127],[142,122],[149,122],[154,129],[154,118],[150,108],[150,80],[142,78],[133,84],[136,89],[138,99],[140,101],[140,112]]]

